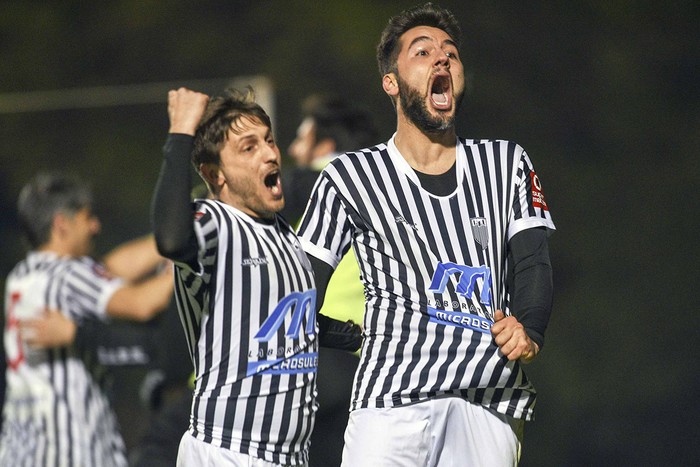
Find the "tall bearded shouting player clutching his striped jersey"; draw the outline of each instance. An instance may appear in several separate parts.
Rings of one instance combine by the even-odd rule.
[[[533,164],[519,145],[456,135],[460,28],[426,4],[377,47],[393,137],[336,157],[298,231],[319,297],[352,246],[366,290],[344,466],[512,466],[552,302]],[[320,303],[319,303],[320,306]]]

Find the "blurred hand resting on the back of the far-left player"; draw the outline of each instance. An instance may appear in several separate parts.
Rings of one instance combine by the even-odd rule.
[[[19,324],[22,340],[40,349],[72,344],[76,328],[70,318],[53,309],[46,309],[41,317],[25,319]]]

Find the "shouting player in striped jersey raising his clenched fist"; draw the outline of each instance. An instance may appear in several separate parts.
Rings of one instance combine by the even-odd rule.
[[[175,262],[195,366],[178,465],[306,465],[324,342],[311,265],[277,215],[284,195],[270,118],[252,90],[212,99],[173,90],[168,114],[154,232]],[[190,157],[213,199],[190,202]],[[327,324],[319,327],[332,339],[356,329]]]

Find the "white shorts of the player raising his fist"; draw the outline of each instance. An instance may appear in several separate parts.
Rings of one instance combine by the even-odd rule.
[[[205,443],[186,432],[177,451],[177,467],[287,467]],[[304,467],[304,466],[302,466]]]

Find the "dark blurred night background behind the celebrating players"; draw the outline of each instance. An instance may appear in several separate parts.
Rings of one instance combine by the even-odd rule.
[[[520,143],[557,225],[521,465],[700,465],[700,2],[438,3],[464,30],[458,133]],[[24,255],[15,199],[40,169],[93,182],[98,253],[149,230],[171,85],[262,79],[283,153],[319,91],[371,109],[387,139],[374,47],[414,4],[1,1],[0,276]],[[123,418],[129,442],[142,420]]]

